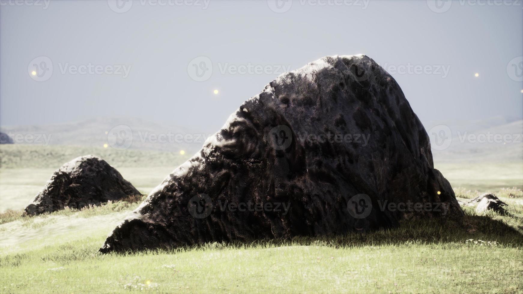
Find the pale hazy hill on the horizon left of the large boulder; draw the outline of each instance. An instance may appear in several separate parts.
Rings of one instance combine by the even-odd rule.
[[[139,117],[95,117],[49,125],[0,126],[17,144],[114,147],[194,153],[207,137],[184,126],[168,126]],[[29,135],[29,136],[28,136]]]

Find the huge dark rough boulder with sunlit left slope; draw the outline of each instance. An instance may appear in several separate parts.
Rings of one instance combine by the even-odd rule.
[[[365,55],[328,56],[244,102],[100,251],[343,234],[443,215],[463,211],[400,86]]]

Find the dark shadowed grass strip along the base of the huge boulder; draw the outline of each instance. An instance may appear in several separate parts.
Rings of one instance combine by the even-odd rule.
[[[505,220],[507,217],[503,217]],[[523,224],[523,218],[512,216]],[[490,216],[465,215],[462,222],[447,219],[405,220],[399,228],[373,232],[352,232],[342,236],[298,236],[287,239],[263,239],[252,241],[208,242],[182,246],[176,249],[153,249],[109,255],[175,254],[192,250],[264,249],[282,246],[332,246],[334,248],[358,248],[365,246],[446,245],[460,247],[467,240],[496,241],[498,246],[523,248],[523,226],[519,230],[504,220]]]

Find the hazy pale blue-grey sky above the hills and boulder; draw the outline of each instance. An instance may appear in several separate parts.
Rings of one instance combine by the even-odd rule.
[[[138,116],[213,132],[282,72],[359,53],[392,74],[422,122],[523,116],[521,2],[0,4],[3,125]]]

